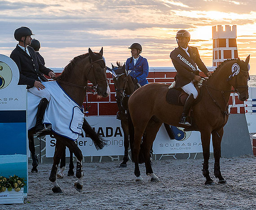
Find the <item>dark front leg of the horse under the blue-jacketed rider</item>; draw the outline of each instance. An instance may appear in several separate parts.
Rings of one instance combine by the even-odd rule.
[[[125,114],[121,114],[121,126],[124,131],[124,158],[123,162],[120,164],[120,168],[126,168],[127,167],[127,162],[129,160],[128,156],[128,148],[129,148],[129,129],[128,129],[128,122],[126,119]]]

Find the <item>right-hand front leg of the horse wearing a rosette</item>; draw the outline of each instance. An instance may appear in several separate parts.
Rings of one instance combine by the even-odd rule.
[[[214,175],[219,179],[219,184],[225,184],[226,181],[221,175],[220,158],[221,158],[221,140],[223,136],[223,128],[212,132],[212,145],[214,154]]]

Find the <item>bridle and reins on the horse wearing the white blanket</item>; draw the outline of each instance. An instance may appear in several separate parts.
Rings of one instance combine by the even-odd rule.
[[[90,69],[88,70],[88,73],[86,74],[86,78],[88,77],[88,74],[90,73],[91,69],[92,69],[92,68],[94,69],[93,63],[96,63],[96,62],[98,62],[98,61],[104,61],[104,59],[101,58],[101,59],[98,59],[98,60],[96,60],[96,61],[91,62],[91,66],[90,66]],[[104,61],[104,62],[105,62],[105,61]],[[85,91],[88,90],[88,91],[92,92],[92,93],[95,95],[95,94],[97,94],[97,86],[98,86],[98,83],[99,83],[99,82],[102,82],[102,81],[105,81],[105,80],[107,80],[107,79],[105,78],[105,79],[96,80],[94,71],[93,71],[93,78],[94,78],[94,82],[95,82],[95,83],[93,84],[93,86],[88,86],[88,85],[87,85],[87,86],[82,86],[82,85],[77,85],[77,84],[74,84],[74,83],[68,83],[68,82],[62,81],[62,80],[57,80],[57,82],[63,83],[63,84],[69,85],[69,86],[73,86],[73,87],[76,87],[76,88],[82,88],[82,89],[84,89]],[[91,81],[91,82],[92,82],[92,81]]]

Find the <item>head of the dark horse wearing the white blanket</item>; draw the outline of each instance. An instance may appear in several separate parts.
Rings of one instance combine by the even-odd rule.
[[[106,63],[103,57],[103,48],[99,53],[93,53],[89,48],[90,69],[87,72],[86,78],[96,87],[96,92],[99,96],[107,97],[110,94],[110,88],[106,79]]]

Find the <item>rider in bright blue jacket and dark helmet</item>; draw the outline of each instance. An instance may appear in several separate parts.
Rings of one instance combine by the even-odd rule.
[[[132,57],[125,62],[128,74],[135,79],[141,86],[148,84],[146,77],[149,74],[149,64],[146,58],[140,56],[142,52],[141,44],[133,43],[130,47]]]

